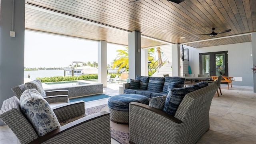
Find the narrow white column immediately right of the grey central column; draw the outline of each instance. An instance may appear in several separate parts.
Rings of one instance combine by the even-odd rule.
[[[148,76],[148,49],[141,49],[141,76]]]

